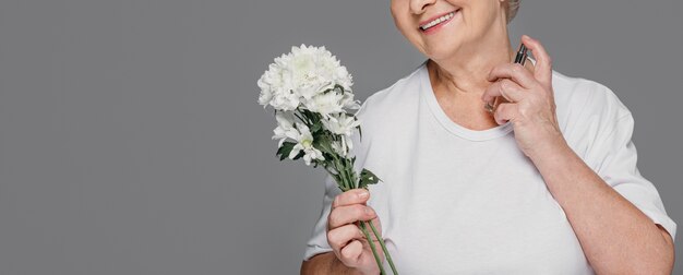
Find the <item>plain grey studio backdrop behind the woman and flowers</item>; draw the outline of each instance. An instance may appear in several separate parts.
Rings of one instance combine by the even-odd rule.
[[[626,104],[679,225],[682,10],[524,0],[511,25]],[[324,175],[276,159],[256,79],[302,43],[360,99],[423,60],[387,0],[0,1],[0,274],[297,274]]]

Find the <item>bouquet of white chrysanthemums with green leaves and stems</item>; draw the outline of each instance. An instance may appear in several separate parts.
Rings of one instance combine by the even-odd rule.
[[[354,144],[351,135],[360,121],[347,109],[360,108],[351,92],[351,75],[325,47],[292,47],[291,52],[275,58],[275,62],[259,79],[261,88],[259,104],[275,109],[277,128],[274,140],[279,139],[276,155],[285,158],[303,157],[305,165],[324,167],[336,180],[342,191],[356,188],[368,189],[380,179],[368,169],[354,170],[355,156],[350,156]],[[382,261],[370,238],[367,225],[379,240],[394,274],[397,274],[384,240],[370,222],[359,226],[380,271],[385,274]]]

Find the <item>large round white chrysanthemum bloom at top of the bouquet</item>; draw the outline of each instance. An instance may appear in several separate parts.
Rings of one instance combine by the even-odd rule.
[[[325,47],[292,47],[291,52],[275,58],[259,79],[259,104],[277,110],[293,110],[326,89],[342,86],[350,92],[351,75]],[[347,96],[348,98],[348,96]],[[352,101],[352,94],[351,94]],[[343,107],[352,107],[348,100]]]

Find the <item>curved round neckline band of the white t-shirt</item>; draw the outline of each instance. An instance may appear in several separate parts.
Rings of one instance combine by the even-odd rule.
[[[535,60],[532,60],[531,58],[529,59],[534,63],[536,63]],[[420,65],[420,82],[421,82],[421,86],[422,86],[421,91],[423,95],[422,98],[427,100],[429,109],[434,116],[434,118],[436,118],[436,120],[446,130],[448,130],[451,133],[457,136],[471,140],[471,141],[493,140],[496,138],[504,136],[513,131],[514,128],[511,121],[507,121],[503,124],[500,124],[498,127],[490,128],[487,130],[472,130],[472,129],[465,128],[458,123],[455,123],[453,120],[451,120],[451,118],[448,118],[448,116],[443,111],[443,109],[439,105],[439,101],[436,100],[436,96],[434,95],[434,91],[432,89],[432,84],[429,79],[429,71],[427,69],[428,61],[429,59],[422,62],[422,64]]]

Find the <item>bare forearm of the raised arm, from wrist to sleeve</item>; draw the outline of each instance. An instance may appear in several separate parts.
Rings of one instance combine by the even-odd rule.
[[[671,236],[566,145],[531,157],[598,274],[671,274]]]

